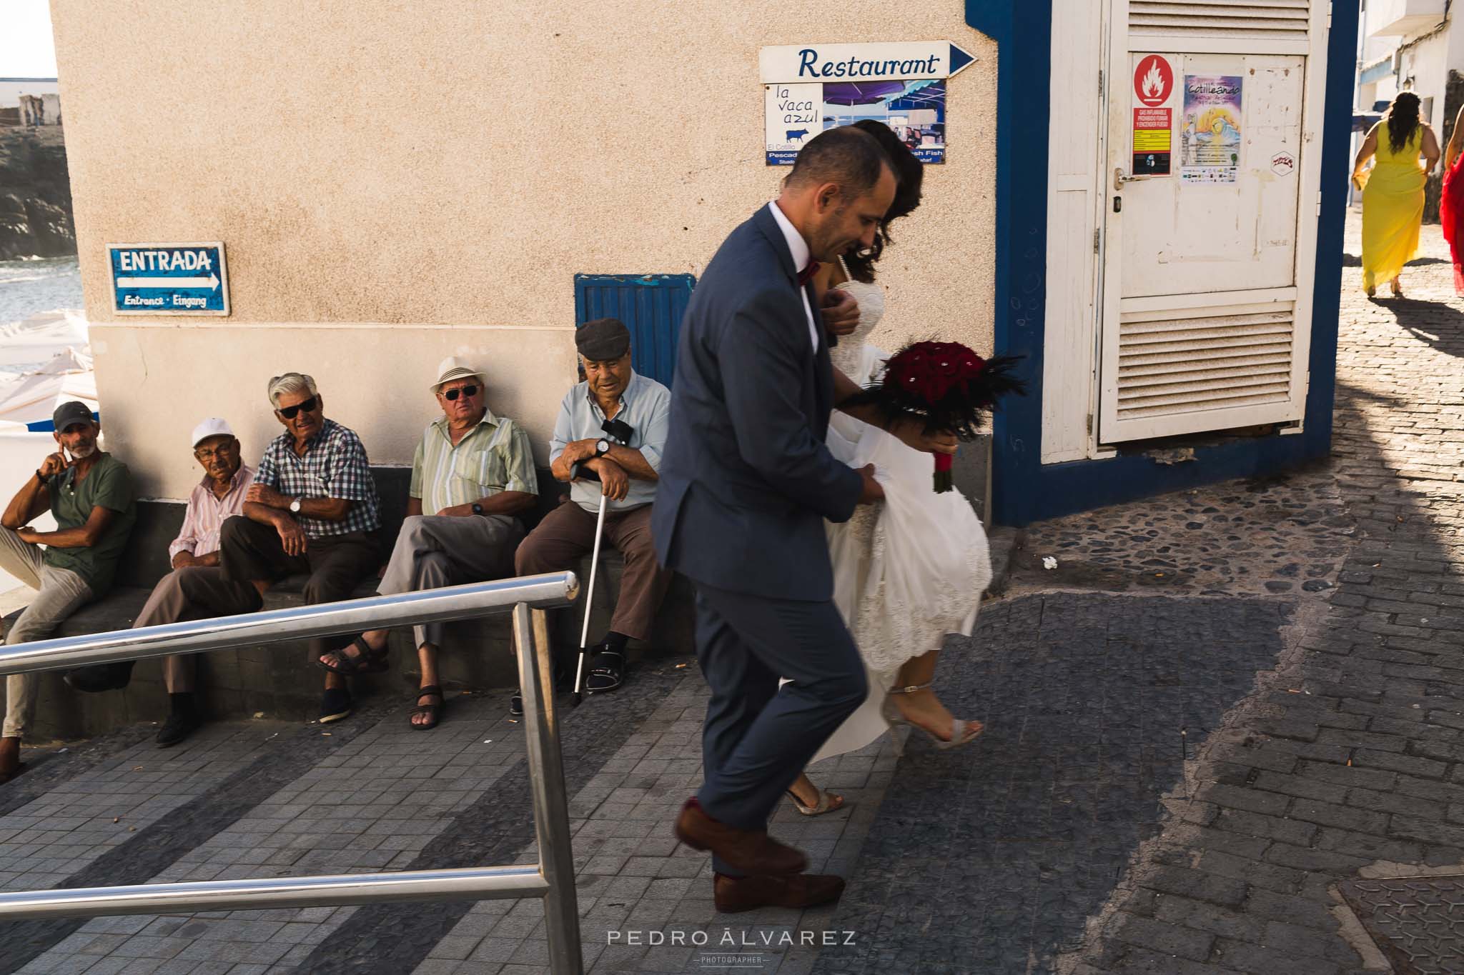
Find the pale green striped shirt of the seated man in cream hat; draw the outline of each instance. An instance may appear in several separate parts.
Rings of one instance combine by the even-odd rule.
[[[422,513],[471,504],[499,491],[539,494],[539,475],[529,434],[512,420],[485,411],[477,428],[452,446],[447,417],[422,431],[411,459],[408,494],[422,498]]]

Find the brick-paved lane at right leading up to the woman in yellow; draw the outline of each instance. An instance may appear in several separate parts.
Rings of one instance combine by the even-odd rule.
[[[1389,971],[1340,884],[1464,873],[1464,303],[1438,228],[1423,257],[1405,300],[1344,291],[1331,471],[1359,531],[1329,605],[1200,748],[1195,801],[1064,969]]]

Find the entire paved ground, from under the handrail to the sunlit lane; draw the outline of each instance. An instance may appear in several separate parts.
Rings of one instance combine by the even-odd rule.
[[[1398,912],[1438,934],[1464,889],[1464,301],[1424,232],[1407,300],[1344,297],[1329,463],[1031,526],[941,659],[985,735],[813,769],[846,807],[773,832],[849,877],[840,903],[713,909],[669,833],[700,778],[690,658],[565,712],[590,971],[1449,971],[1458,946]],[[505,705],[72,746],[0,786],[0,884],[531,861]],[[546,952],[536,900],[407,903],[12,924],[0,971],[526,975]]]

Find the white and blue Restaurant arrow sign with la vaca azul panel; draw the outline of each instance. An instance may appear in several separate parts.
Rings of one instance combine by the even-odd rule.
[[[824,129],[864,118],[889,126],[922,162],[944,162],[946,79],[974,61],[949,41],[764,47],[767,165],[792,165]]]

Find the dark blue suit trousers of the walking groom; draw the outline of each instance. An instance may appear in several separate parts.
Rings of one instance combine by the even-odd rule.
[[[864,703],[859,650],[832,601],[697,583],[697,659],[712,687],[697,800],[728,826],[767,829],[788,786]],[[779,688],[779,678],[789,683]],[[717,873],[741,874],[712,862]]]

